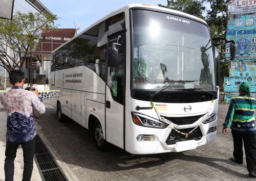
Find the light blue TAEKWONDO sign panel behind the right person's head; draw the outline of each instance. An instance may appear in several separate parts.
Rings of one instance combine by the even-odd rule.
[[[225,92],[238,92],[240,84],[249,84],[251,92],[255,92],[256,76],[231,76],[224,77]]]

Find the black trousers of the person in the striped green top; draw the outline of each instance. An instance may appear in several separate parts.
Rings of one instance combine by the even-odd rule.
[[[256,134],[238,134],[231,131],[234,143],[233,156],[238,162],[243,162],[243,142],[247,170],[256,172]]]

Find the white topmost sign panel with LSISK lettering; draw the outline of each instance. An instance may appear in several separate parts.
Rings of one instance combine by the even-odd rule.
[[[256,13],[255,0],[231,0],[228,5],[228,14]]]

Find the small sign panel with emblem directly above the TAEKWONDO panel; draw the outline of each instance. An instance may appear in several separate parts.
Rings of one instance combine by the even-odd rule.
[[[229,76],[255,76],[255,61],[230,62]]]

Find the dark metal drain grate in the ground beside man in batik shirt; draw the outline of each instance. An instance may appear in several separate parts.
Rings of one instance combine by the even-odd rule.
[[[48,151],[45,144],[36,135],[35,143],[35,161],[39,168],[42,180],[45,181],[66,181],[67,179],[61,173],[56,162],[53,160],[51,153]]]

